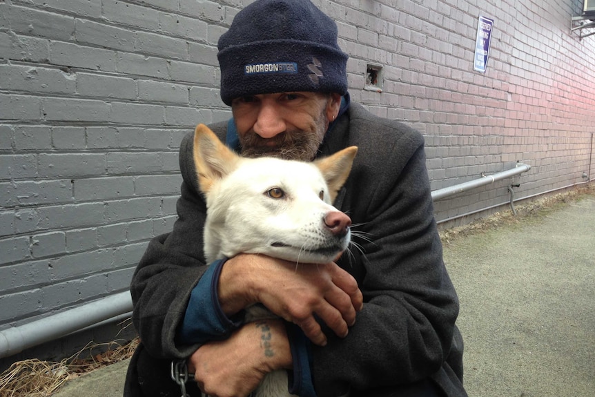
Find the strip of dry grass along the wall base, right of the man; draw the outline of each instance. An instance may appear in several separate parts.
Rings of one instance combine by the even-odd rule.
[[[549,195],[533,202],[516,205],[516,215],[514,215],[511,210],[500,211],[493,215],[475,220],[470,224],[440,231],[440,240],[442,240],[442,244],[448,245],[467,235],[483,233],[498,226],[518,224],[521,221],[526,222],[529,220],[536,220],[562,205],[581,200],[581,197],[585,197],[585,195],[595,196],[595,183],[584,184],[563,193]]]

